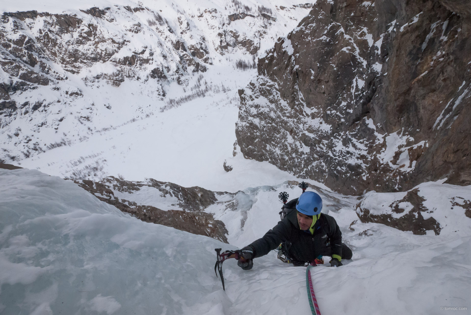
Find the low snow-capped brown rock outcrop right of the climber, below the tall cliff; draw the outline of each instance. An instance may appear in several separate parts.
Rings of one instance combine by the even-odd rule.
[[[470,188],[438,181],[405,192],[369,191],[357,204],[356,212],[364,223],[381,223],[416,235],[467,233],[471,223]]]

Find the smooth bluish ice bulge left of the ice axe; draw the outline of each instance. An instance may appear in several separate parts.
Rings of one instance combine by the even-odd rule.
[[[208,267],[219,242],[141,222],[39,171],[0,177],[2,314],[183,314],[220,289]]]

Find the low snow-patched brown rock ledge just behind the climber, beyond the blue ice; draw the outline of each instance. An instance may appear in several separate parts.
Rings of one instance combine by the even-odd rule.
[[[276,186],[251,187],[236,193],[210,191],[201,187],[182,187],[154,179],[132,182],[110,176],[99,182],[78,179],[73,181],[98,199],[131,213],[140,220],[209,236],[223,242],[227,242],[228,234],[244,228],[248,211],[257,202],[259,193],[295,191],[291,198],[296,198],[298,193],[301,193],[296,181]],[[324,213],[337,212],[347,205],[354,206],[315,185],[309,184],[309,187],[321,195]],[[275,209],[273,215],[277,216],[278,211]],[[231,229],[230,233],[228,229]]]

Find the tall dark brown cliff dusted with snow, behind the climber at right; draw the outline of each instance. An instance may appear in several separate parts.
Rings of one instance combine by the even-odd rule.
[[[239,90],[247,158],[348,194],[471,183],[471,4],[319,0]]]

